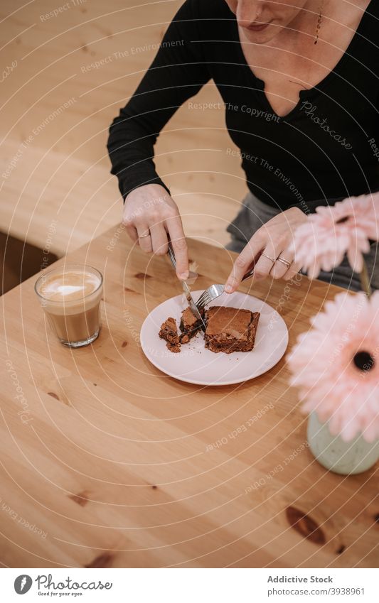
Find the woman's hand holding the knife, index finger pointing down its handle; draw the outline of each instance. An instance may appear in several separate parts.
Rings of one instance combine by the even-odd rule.
[[[178,278],[188,278],[188,251],[178,207],[166,189],[148,184],[129,192],[124,203],[122,223],[129,237],[146,253],[163,256],[168,251],[168,234],[176,258]]]

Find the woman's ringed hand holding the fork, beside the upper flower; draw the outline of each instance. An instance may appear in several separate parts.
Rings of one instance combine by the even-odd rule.
[[[263,224],[235,260],[225,284],[226,293],[233,293],[237,289],[252,265],[252,278],[255,281],[267,276],[284,278],[285,281],[292,278],[301,266],[293,261],[294,254],[289,253],[288,246],[292,243],[294,231],[304,222],[306,215],[297,207],[292,207]]]

